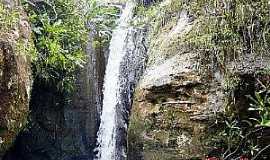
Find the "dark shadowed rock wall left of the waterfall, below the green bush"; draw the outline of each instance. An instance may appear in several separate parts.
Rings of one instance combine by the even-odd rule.
[[[92,159],[106,62],[103,53],[93,48],[93,37],[89,33],[86,64],[77,71],[73,95],[35,80],[29,126],[6,160]]]

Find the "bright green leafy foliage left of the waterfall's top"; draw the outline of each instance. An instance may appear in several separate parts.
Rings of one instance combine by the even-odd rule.
[[[96,43],[108,43],[119,9],[75,0],[24,1],[24,7],[37,52],[33,61],[35,79],[59,91],[72,92],[75,71],[85,63],[89,32],[97,31],[100,38]]]

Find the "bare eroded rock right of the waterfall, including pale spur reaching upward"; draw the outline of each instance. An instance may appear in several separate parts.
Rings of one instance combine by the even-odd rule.
[[[202,74],[198,53],[175,46],[192,26],[182,12],[150,44],[130,118],[130,160],[202,158],[209,149],[209,126],[223,109],[222,76]]]

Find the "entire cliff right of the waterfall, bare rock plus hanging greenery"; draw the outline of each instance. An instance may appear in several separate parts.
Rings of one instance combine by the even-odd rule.
[[[269,68],[266,10],[266,0],[137,7],[134,25],[149,24],[151,36],[130,119],[129,158],[203,159],[218,147],[217,156],[230,155],[250,131],[240,124],[248,118],[246,96],[254,94],[257,72]]]

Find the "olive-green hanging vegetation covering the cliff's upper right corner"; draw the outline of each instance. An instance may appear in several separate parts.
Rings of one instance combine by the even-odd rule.
[[[268,1],[206,1],[192,6],[198,24],[186,41],[204,57],[214,55],[219,66],[245,55],[266,55],[269,51]],[[226,71],[224,71],[226,72]]]

